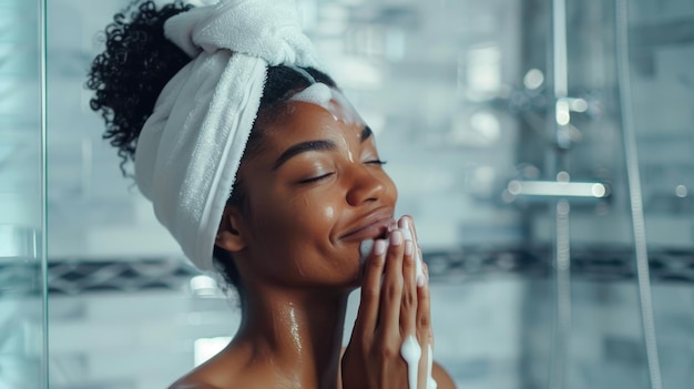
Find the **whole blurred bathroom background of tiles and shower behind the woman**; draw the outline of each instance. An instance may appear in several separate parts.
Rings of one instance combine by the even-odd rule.
[[[164,388],[238,323],[89,110],[127,2],[0,0],[0,389]],[[694,388],[694,2],[299,6],[417,221],[459,388]]]

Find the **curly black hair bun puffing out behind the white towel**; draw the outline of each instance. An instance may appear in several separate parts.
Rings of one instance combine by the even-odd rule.
[[[164,22],[191,8],[182,1],[161,10],[153,1],[132,2],[104,31],[105,50],[92,62],[86,88],[94,91],[90,108],[101,111],[106,124],[103,137],[118,147],[121,170],[134,160],[137,136],[159,93],[191,61],[164,38]]]

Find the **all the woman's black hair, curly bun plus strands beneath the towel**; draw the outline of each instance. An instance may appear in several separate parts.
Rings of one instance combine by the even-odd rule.
[[[111,145],[118,149],[123,175],[127,175],[124,167],[127,162],[134,161],[137,137],[152,114],[159,94],[192,60],[165,38],[164,22],[192,8],[181,0],[161,9],[156,8],[154,1],[134,0],[124,11],[116,13],[113,22],[104,30],[105,50],[92,62],[85,86],[94,91],[90,106],[93,111],[101,111],[106,126],[103,139],[110,140]],[[313,68],[304,71],[316,81],[337,88],[327,74]],[[258,116],[272,112],[293,92],[309,84],[303,74],[292,68],[268,66]],[[261,122],[256,120],[254,123],[242,164],[262,142],[262,131],[258,129]],[[243,183],[237,182],[229,194],[227,206],[249,212],[244,206],[245,198]],[[226,281],[236,287],[243,297],[242,280],[231,253],[215,246],[214,262]]]

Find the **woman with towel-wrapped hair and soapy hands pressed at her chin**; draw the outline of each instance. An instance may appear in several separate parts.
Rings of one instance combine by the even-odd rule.
[[[243,315],[232,342],[172,388],[452,388],[428,366],[412,221],[394,219],[372,133],[318,70],[293,4],[146,1],[130,17],[106,28],[92,109],[157,218],[238,290]]]

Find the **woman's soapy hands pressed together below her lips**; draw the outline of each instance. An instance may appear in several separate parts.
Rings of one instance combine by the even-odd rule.
[[[411,217],[400,218],[398,228],[409,228],[411,240],[401,231],[392,231],[387,240],[374,243],[364,265],[361,301],[341,360],[344,389],[427,387],[428,349],[433,340],[428,280],[425,276],[417,283],[416,260],[421,252]],[[421,348],[417,388],[409,387],[407,362],[400,355],[409,336]]]

